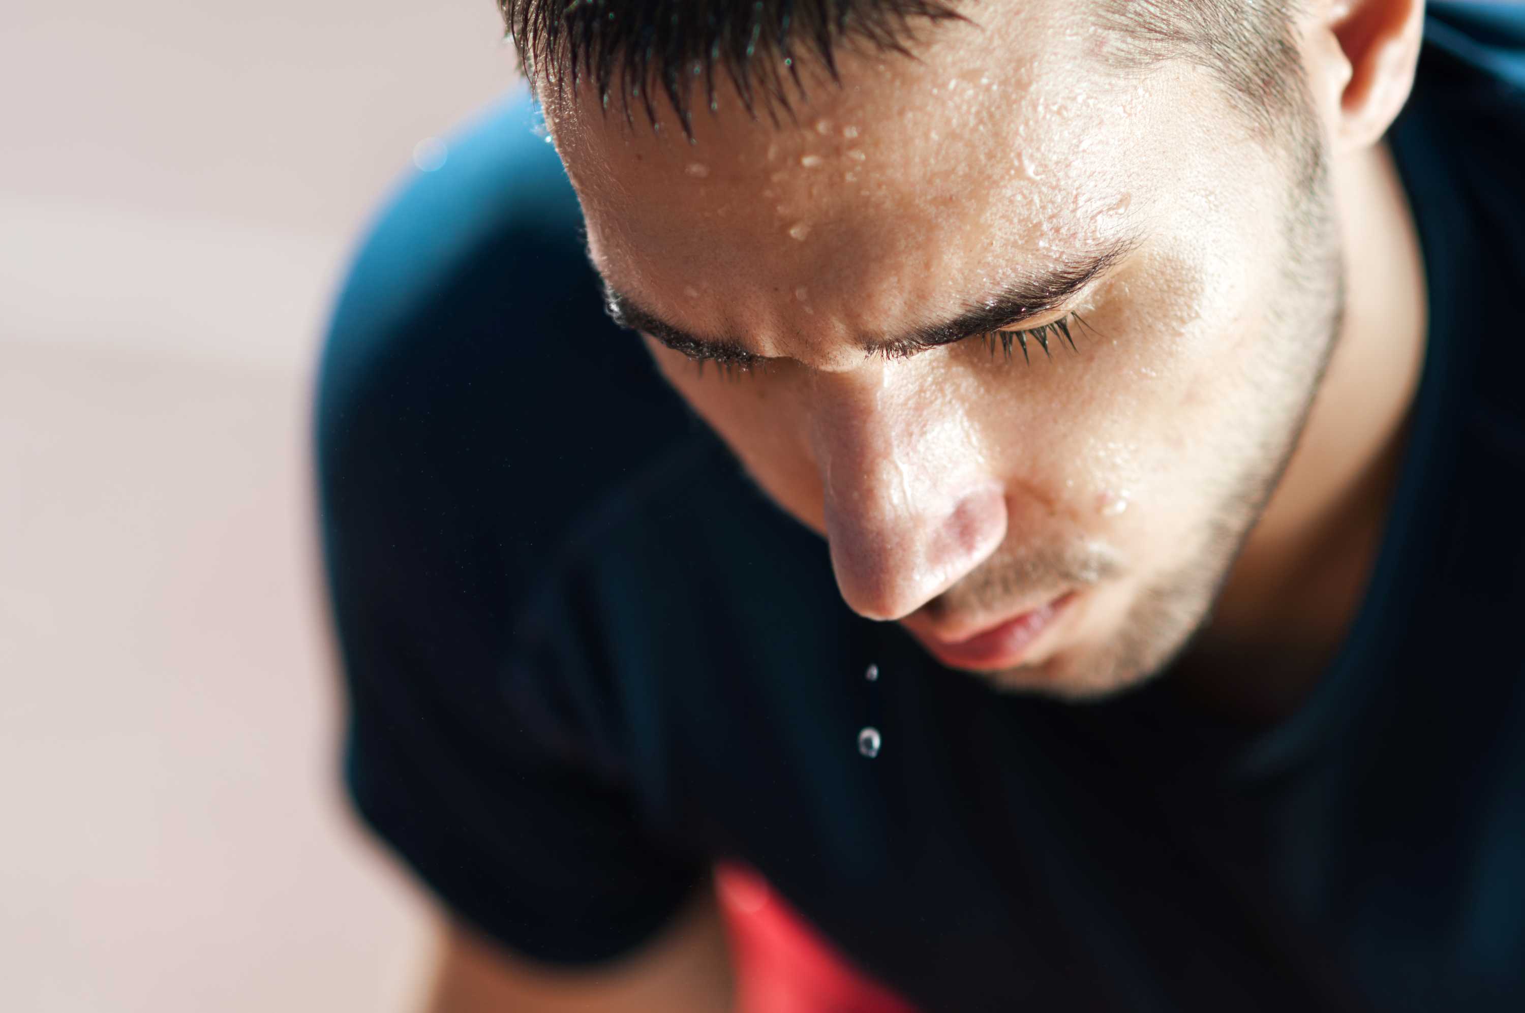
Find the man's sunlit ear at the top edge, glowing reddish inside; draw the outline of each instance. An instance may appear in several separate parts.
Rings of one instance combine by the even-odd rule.
[[[1424,0],[1322,0],[1313,76],[1340,150],[1377,143],[1414,88]]]

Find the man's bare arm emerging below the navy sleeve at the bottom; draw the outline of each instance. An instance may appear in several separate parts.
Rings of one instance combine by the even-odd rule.
[[[732,1004],[730,952],[706,883],[656,938],[593,969],[538,964],[448,923],[424,1011],[723,1013]]]

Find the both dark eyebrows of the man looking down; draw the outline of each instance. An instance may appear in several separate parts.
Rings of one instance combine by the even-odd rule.
[[[1063,307],[1139,244],[1138,235],[1112,240],[1089,253],[1071,255],[1057,267],[1020,278],[993,294],[965,301],[968,308],[952,320],[917,326],[891,339],[868,336],[856,345],[868,355],[895,357],[952,345],[976,334],[1020,326]],[[668,323],[636,299],[616,290],[607,279],[604,279],[604,307],[619,326],[650,334],[662,345],[686,355],[732,362],[759,359],[735,337],[691,334]]]

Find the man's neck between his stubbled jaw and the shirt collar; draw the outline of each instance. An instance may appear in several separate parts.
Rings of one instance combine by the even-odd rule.
[[[1347,307],[1298,449],[1171,682],[1264,723],[1307,696],[1366,597],[1424,360],[1426,285],[1386,145],[1333,166]]]

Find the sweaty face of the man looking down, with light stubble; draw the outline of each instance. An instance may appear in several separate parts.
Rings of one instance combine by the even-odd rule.
[[[1106,69],[1081,5],[981,15],[927,29],[918,59],[840,56],[840,88],[805,72],[781,128],[718,84],[694,145],[587,88],[546,114],[610,290],[669,339],[749,354],[702,369],[644,336],[827,539],[848,606],[1003,690],[1096,696],[1205,621],[1331,349],[1339,253],[1327,192],[1209,75]],[[1048,351],[863,351],[1034,285],[991,330]],[[1040,331],[1058,322],[1074,349]]]

